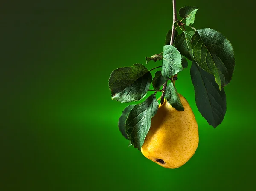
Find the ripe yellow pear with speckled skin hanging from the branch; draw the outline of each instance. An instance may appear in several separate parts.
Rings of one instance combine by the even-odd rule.
[[[148,159],[165,168],[184,165],[198,147],[198,124],[189,103],[179,94],[184,111],[177,111],[167,100],[159,105],[141,148]]]

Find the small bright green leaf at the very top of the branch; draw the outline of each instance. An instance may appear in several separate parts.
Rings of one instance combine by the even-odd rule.
[[[192,25],[195,21],[195,14],[198,10],[198,7],[194,6],[184,6],[180,8],[179,15],[180,17],[186,19],[186,25]]]

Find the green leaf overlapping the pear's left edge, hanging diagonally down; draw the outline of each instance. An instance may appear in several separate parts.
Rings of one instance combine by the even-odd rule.
[[[156,93],[144,102],[134,106],[126,120],[125,129],[131,144],[140,149],[151,125],[151,118],[157,113]]]

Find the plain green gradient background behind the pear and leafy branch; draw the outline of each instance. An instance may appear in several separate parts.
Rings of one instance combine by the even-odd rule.
[[[254,4],[177,0],[177,8],[185,5],[199,7],[196,29],[231,41],[236,67],[216,129],[196,108],[189,69],[179,74],[176,87],[195,113],[200,141],[172,170],[128,148],[117,121],[129,103],[111,100],[108,89],[111,71],[162,51],[171,0],[1,2],[1,191],[256,189]]]

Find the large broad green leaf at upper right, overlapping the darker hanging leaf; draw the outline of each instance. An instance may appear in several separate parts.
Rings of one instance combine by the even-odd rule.
[[[221,87],[230,83],[235,67],[235,58],[231,43],[218,31],[200,29],[191,39],[196,63],[205,71],[213,74]]]

